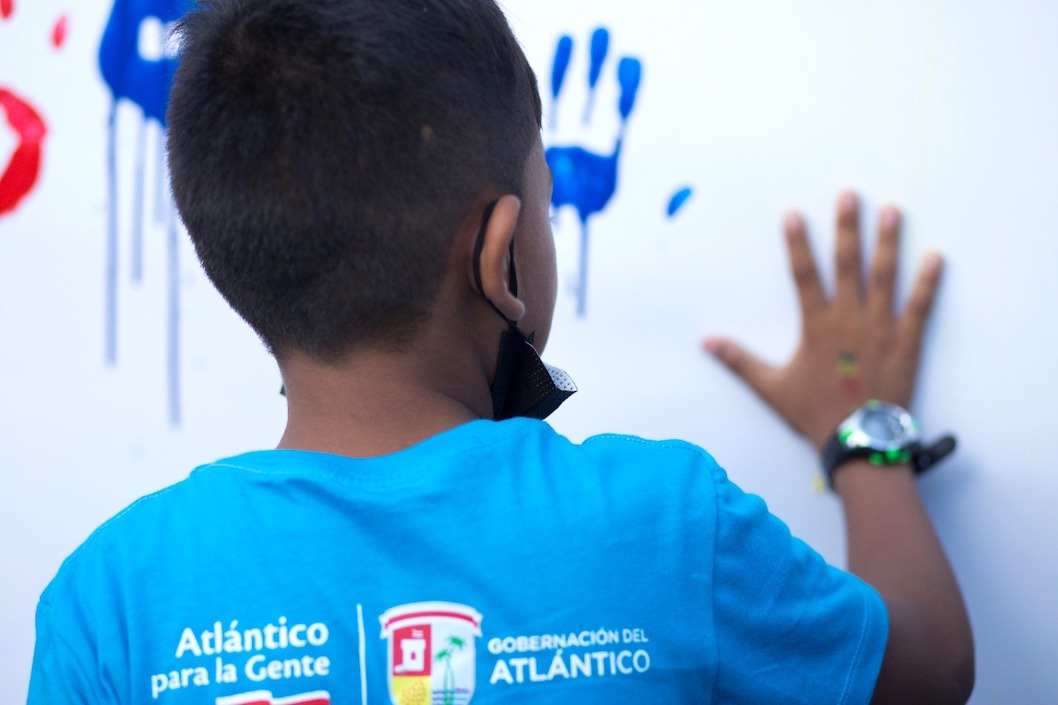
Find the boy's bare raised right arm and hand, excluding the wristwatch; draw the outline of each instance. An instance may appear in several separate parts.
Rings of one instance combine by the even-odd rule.
[[[886,209],[878,228],[864,286],[858,201],[853,194],[842,196],[836,290],[828,300],[804,222],[795,214],[787,217],[802,336],[784,367],[770,366],[729,340],[706,342],[820,452],[863,401],[907,408],[911,400],[942,260],[927,257],[905,310],[895,314],[898,213]],[[973,637],[910,466],[850,460],[835,472],[834,489],[845,513],[849,570],[881,594],[889,611],[890,636],[872,703],[965,703],[973,687]]]

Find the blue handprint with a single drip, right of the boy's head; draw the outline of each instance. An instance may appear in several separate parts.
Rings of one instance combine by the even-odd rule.
[[[561,100],[572,53],[572,37],[561,37],[555,48],[551,71],[552,129],[557,126],[558,118],[558,111],[554,107]],[[587,75],[588,97],[584,108],[585,124],[591,122],[596,87],[604,75],[603,69],[608,53],[609,32],[600,28],[591,34],[589,42],[590,62]],[[551,173],[554,175],[551,205],[555,210],[571,205],[576,209],[581,220],[581,248],[577,281],[578,315],[584,315],[587,310],[588,220],[595,214],[605,210],[617,191],[618,165],[621,144],[624,140],[624,129],[628,116],[635,108],[636,94],[641,78],[642,64],[639,59],[626,56],[618,61],[617,82],[620,87],[620,98],[617,110],[621,116],[621,126],[612,152],[600,155],[577,145],[551,146],[546,152],[548,166],[551,167]]]

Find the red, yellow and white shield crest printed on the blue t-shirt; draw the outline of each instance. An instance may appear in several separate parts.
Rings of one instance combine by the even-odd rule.
[[[454,602],[414,602],[386,610],[379,621],[394,705],[467,705],[474,695],[477,610]]]

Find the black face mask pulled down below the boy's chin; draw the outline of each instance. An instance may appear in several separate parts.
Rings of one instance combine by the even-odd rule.
[[[489,224],[492,210],[491,203],[481,217],[481,229],[474,245],[474,282],[478,292],[485,296],[481,287],[481,247],[485,242],[485,229]],[[510,288],[513,295],[518,294],[517,272],[514,268],[514,241],[510,250]],[[496,360],[496,377],[492,382],[492,418],[501,421],[507,418],[525,416],[528,418],[547,418],[563,401],[568,399],[577,385],[569,375],[545,364],[533,347],[533,333],[526,337],[514,321],[500,311],[488,296],[493,310],[507,322],[507,330],[499,337],[499,358]]]

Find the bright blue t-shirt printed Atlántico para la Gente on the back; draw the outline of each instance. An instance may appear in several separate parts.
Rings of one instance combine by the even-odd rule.
[[[44,591],[30,703],[867,703],[887,632],[703,450],[474,421],[134,503]]]

